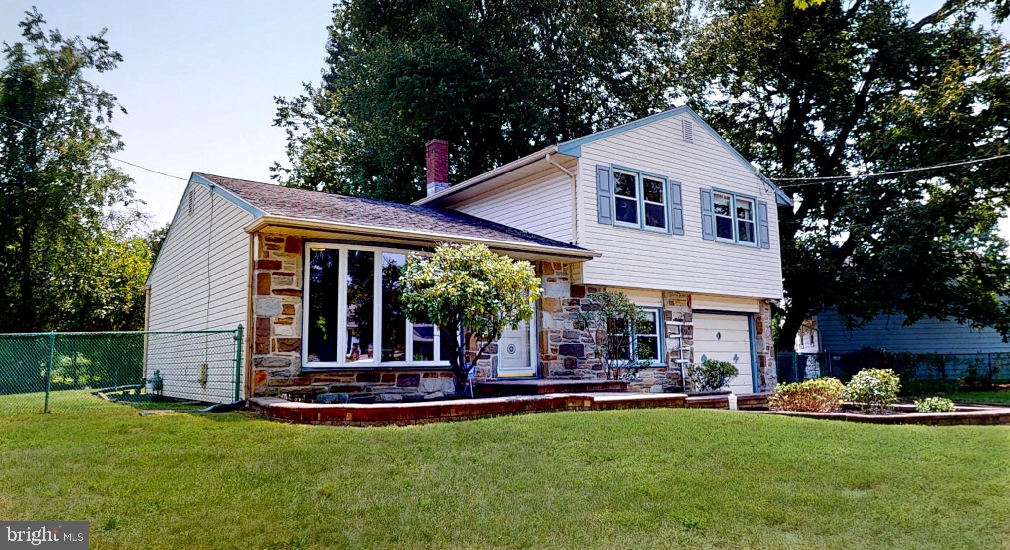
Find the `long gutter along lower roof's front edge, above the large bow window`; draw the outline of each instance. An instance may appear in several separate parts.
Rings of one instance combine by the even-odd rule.
[[[334,222],[327,220],[313,220],[305,218],[288,218],[285,216],[262,216],[245,224],[242,229],[246,233],[255,233],[268,225],[282,225],[298,227],[303,229],[320,229],[325,231],[342,231],[361,233],[366,235],[376,235],[384,237],[410,238],[415,240],[445,240],[452,242],[483,242],[492,248],[514,250],[522,252],[541,252],[556,256],[594,258],[599,257],[600,252],[592,250],[577,250],[560,246],[545,246],[542,244],[532,244],[528,242],[516,242],[512,240],[489,239],[483,237],[467,237],[453,235],[450,233],[435,233],[431,231],[418,231],[416,229],[391,229],[388,227],[376,227],[374,225],[363,225],[358,223]]]

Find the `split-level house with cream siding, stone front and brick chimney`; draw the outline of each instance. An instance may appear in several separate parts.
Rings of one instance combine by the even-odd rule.
[[[530,323],[478,358],[478,381],[603,377],[572,313],[606,288],[651,326],[634,345],[652,365],[631,389],[678,387],[685,364],[707,358],[737,366],[736,393],[774,388],[776,205],[790,200],[693,110],[452,186],[447,163],[448,144],[429,142],[427,196],[411,205],[194,173],[148,279],[148,330],[250,327],[243,397],[438,397],[452,389],[441,342],[453,335],[406,319],[397,278],[411,251],[483,242],[534,262],[544,293]],[[161,366],[167,395],[231,399]]]

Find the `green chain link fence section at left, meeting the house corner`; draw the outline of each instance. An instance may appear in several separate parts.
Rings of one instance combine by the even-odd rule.
[[[242,328],[0,334],[0,417],[240,399]]]

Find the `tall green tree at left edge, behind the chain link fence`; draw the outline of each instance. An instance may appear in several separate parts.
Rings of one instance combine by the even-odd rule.
[[[67,326],[66,292],[104,249],[106,209],[128,204],[130,179],[110,163],[115,96],[86,79],[122,57],[104,29],[83,39],[43,28],[37,10],[4,43],[0,73],[0,331]],[[82,269],[74,272],[74,269]],[[118,284],[113,285],[117,287]],[[75,291],[76,292],[76,291]]]

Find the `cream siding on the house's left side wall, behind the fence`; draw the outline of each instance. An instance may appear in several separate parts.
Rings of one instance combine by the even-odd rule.
[[[251,220],[221,195],[189,184],[149,280],[148,330],[231,330],[246,323],[248,235],[242,226]],[[152,335],[147,377],[160,370],[166,396],[228,403],[234,397],[234,351],[230,334]],[[197,381],[204,362],[206,386]]]

